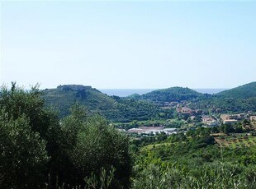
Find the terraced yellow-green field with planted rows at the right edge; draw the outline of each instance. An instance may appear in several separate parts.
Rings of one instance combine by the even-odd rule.
[[[256,145],[256,136],[219,136],[215,141],[221,148],[242,148]]]

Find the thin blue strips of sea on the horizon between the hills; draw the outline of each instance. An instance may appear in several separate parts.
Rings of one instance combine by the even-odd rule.
[[[158,89],[101,89],[100,91],[110,96],[116,95],[120,97],[126,97],[133,94],[143,95],[153,90],[158,90]],[[196,90],[197,92],[203,93],[203,94],[213,95],[228,89],[192,89],[192,90]]]

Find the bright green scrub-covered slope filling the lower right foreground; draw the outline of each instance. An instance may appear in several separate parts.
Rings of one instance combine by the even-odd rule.
[[[219,148],[198,128],[135,150],[134,188],[254,188],[256,146]],[[134,147],[135,148],[135,147]]]

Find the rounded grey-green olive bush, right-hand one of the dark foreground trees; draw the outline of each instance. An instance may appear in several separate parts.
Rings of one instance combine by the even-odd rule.
[[[83,177],[92,172],[100,174],[101,168],[113,166],[116,174],[112,187],[129,186],[131,167],[129,141],[125,134],[110,127],[105,119],[98,116],[88,118],[82,124],[74,118],[65,118],[62,127],[66,132],[65,144],[69,146],[68,159],[76,170],[73,177],[77,177],[78,183],[83,184]]]

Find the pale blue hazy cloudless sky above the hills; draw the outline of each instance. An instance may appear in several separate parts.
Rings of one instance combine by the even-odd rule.
[[[1,85],[231,88],[256,81],[255,1],[2,1],[0,11]]]

